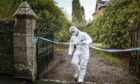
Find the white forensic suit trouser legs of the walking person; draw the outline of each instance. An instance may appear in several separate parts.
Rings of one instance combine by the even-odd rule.
[[[74,53],[71,63],[75,71],[74,77],[78,78],[78,82],[83,82],[84,80],[88,59],[89,59],[89,53],[81,53],[77,51]]]

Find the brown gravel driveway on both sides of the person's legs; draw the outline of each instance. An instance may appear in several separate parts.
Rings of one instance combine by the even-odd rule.
[[[59,63],[44,78],[73,81],[73,69],[67,56],[67,49],[63,48],[61,53],[55,55]],[[140,79],[129,74],[128,69],[111,64],[99,58],[91,52],[88,62],[85,81],[93,84],[140,84]]]

